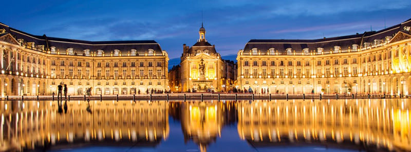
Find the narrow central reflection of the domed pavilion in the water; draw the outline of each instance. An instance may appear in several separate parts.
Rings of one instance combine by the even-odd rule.
[[[207,151],[207,147],[221,137],[222,127],[237,121],[235,104],[233,101],[173,102],[170,112],[181,122],[184,142],[193,140],[200,151]]]

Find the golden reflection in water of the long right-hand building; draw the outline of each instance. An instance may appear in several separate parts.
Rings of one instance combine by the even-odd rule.
[[[290,100],[237,103],[238,134],[254,147],[321,144],[411,149],[409,100]]]

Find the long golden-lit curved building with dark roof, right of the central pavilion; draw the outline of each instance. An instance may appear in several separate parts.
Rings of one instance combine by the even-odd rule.
[[[237,54],[237,83],[255,93],[411,92],[411,19],[380,31],[322,39],[252,39]]]

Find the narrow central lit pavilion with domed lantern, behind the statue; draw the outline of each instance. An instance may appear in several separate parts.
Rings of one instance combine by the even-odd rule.
[[[206,40],[206,29],[201,26],[200,38],[191,48],[183,45],[181,55],[181,89],[183,92],[221,91],[225,82],[225,62],[215,50],[215,46]]]

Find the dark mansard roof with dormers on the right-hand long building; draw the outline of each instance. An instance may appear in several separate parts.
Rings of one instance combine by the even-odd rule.
[[[399,31],[403,31],[404,27],[411,26],[411,19],[404,21],[401,24],[380,30],[364,32],[362,34],[346,35],[339,37],[321,38],[321,39],[251,39],[244,47],[244,51],[250,51],[253,48],[261,52],[267,52],[270,48],[274,48],[278,53],[285,53],[286,49],[291,48],[297,52],[303,49],[317,50],[323,48],[324,52],[334,50],[335,46],[341,47],[341,50],[352,49],[353,45],[358,45],[358,48],[364,47],[366,42],[373,44],[375,40],[387,41],[387,36],[391,38]],[[409,31],[405,31],[409,33]]]

